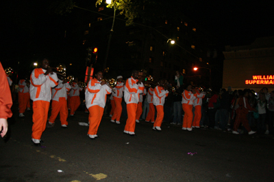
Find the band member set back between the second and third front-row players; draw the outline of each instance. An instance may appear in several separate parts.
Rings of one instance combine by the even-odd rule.
[[[110,120],[112,123],[120,124],[120,118],[122,114],[122,97],[124,91],[124,83],[122,82],[123,76],[117,76],[117,84],[114,87],[115,92],[112,91],[113,100],[114,100],[114,113],[112,115],[112,119]]]

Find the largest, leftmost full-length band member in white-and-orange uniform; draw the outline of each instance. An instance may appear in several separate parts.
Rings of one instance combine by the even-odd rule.
[[[33,102],[34,114],[32,120],[32,142],[40,145],[40,138],[47,125],[49,102],[51,101],[51,87],[58,85],[58,77],[49,67],[49,61],[44,58],[41,61],[41,68],[36,68],[30,76],[31,85],[29,88],[30,98]]]

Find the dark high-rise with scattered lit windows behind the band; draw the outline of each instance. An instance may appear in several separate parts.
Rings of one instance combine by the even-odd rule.
[[[186,17],[160,19],[153,23],[138,23],[125,26],[125,20],[113,9],[97,7],[96,16],[87,19],[84,28],[83,44],[86,48],[97,46],[98,59],[94,67],[103,67],[110,40],[106,67],[110,77],[123,74],[129,77],[132,70],[146,70],[147,75],[166,78],[174,82],[175,71],[184,73],[184,82],[210,85],[210,72],[194,72],[193,67],[210,66],[208,52],[212,48],[210,36],[199,25]],[[106,16],[105,16],[106,15]],[[171,44],[175,40],[175,44]]]

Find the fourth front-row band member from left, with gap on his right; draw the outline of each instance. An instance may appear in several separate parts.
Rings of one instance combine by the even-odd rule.
[[[157,109],[157,117],[153,125],[153,130],[161,131],[162,120],[164,119],[164,99],[169,95],[165,80],[159,81],[159,85],[155,87],[153,92],[153,104]]]

